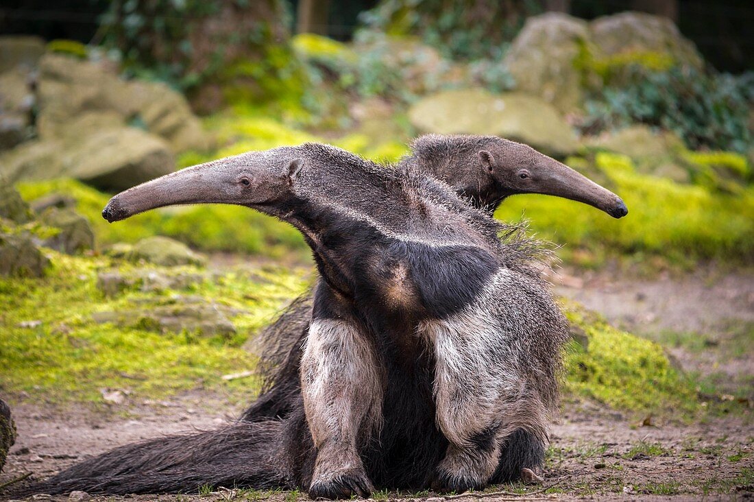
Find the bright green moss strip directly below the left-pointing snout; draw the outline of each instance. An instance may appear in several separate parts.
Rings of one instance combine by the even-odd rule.
[[[273,258],[306,260],[301,234],[287,223],[248,208],[197,205],[163,208],[110,224],[101,213],[109,196],[74,180],[20,183],[21,195],[33,200],[48,193],[65,193],[91,223],[100,245],[136,242],[149,236],[170,236],[204,251],[233,251]]]

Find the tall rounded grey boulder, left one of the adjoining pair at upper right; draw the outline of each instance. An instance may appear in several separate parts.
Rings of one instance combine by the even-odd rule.
[[[574,62],[589,41],[586,21],[550,12],[529,17],[504,64],[516,89],[541,97],[562,112],[581,106],[581,71]]]

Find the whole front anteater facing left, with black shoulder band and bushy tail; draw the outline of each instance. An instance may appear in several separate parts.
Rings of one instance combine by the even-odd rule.
[[[190,203],[246,205],[310,245],[320,281],[295,403],[284,418],[116,448],[31,489],[336,498],[464,491],[529,467],[507,445],[520,431],[546,442],[566,327],[520,229],[420,169],[311,143],[169,174],[118,194],[103,216]]]

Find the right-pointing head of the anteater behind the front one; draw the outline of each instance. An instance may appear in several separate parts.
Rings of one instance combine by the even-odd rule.
[[[520,193],[564,197],[621,218],[628,209],[620,197],[583,174],[523,143],[495,136],[429,134],[412,144],[425,169],[472,200],[492,204]]]

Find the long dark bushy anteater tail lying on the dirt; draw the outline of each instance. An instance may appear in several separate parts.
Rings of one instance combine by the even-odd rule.
[[[284,488],[280,420],[233,423],[218,430],[125,445],[76,464],[14,495],[195,493],[203,486]]]

